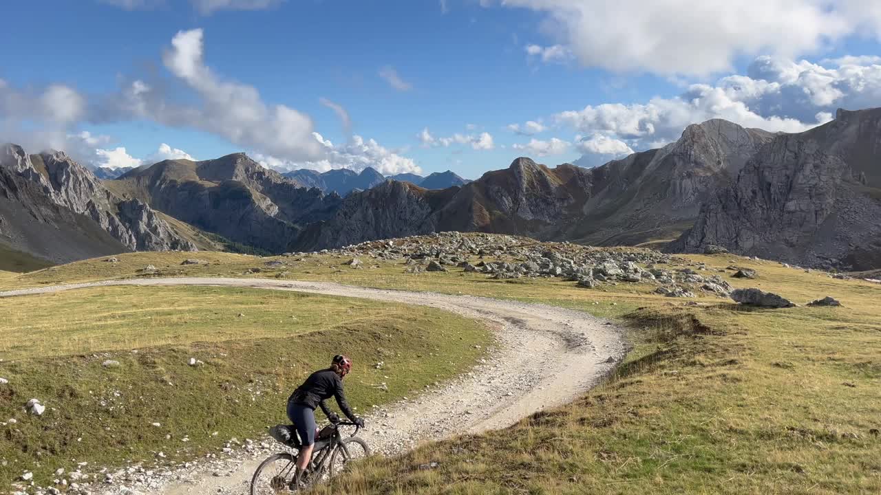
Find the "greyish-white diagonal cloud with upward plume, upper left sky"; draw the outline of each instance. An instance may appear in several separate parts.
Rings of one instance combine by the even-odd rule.
[[[157,89],[135,81],[123,92],[115,118],[145,118],[172,127],[193,127],[225,137],[244,148],[282,159],[315,159],[322,153],[308,115],[285,105],[269,105],[254,86],[225,81],[204,64],[201,29],[174,35],[163,62],[199,97],[199,106],[165,100]]]

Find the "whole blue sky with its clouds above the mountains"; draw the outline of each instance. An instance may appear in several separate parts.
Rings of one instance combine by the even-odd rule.
[[[59,0],[4,14],[18,21],[0,31],[0,141],[109,166],[247,151],[279,169],[476,178],[523,155],[597,165],[707,118],[797,131],[881,106],[881,8],[855,0]]]

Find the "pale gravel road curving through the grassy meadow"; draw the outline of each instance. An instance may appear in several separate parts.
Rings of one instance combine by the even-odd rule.
[[[22,289],[0,292],[0,297],[109,285],[222,285],[309,292],[436,307],[486,321],[495,330],[498,345],[497,351],[483,364],[451,383],[366,415],[369,429],[362,433],[362,438],[375,451],[385,454],[400,454],[423,440],[503,428],[537,410],[571,402],[596,385],[603,373],[615,366],[626,353],[619,329],[574,310],[500,299],[322,282],[145,278]],[[278,450],[278,446],[263,440],[243,449],[234,449],[229,457],[192,462],[174,471],[151,472],[149,476],[137,469],[117,473],[119,483],[103,493],[245,493],[256,465],[272,450]]]

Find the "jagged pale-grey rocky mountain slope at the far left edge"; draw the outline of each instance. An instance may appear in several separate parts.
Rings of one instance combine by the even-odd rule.
[[[28,155],[8,144],[0,151],[0,171],[0,232],[13,247],[63,262],[127,250],[195,249],[146,204],[115,196],[63,152]]]

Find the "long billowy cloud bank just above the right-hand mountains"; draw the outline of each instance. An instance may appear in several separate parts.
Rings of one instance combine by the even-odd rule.
[[[691,123],[722,118],[744,127],[800,132],[832,119],[836,108],[876,107],[881,65],[840,61],[835,67],[759,56],[747,75],[690,85],[673,98],[603,104],[552,115],[552,122],[646,149],[676,140]],[[869,62],[872,62],[871,60]]]

